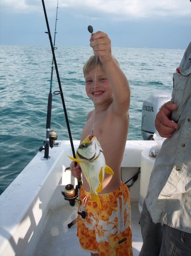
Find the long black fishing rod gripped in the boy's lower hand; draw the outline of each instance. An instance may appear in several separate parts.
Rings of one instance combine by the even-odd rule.
[[[49,36],[50,46],[51,46],[51,49],[52,49],[52,55],[53,55],[53,60],[54,60],[54,67],[56,69],[56,75],[57,75],[58,85],[59,85],[59,89],[60,89],[60,92],[58,94],[60,94],[61,99],[62,99],[63,112],[65,113],[65,119],[66,119],[67,131],[68,131],[69,138],[70,138],[71,150],[73,152],[73,157],[75,158],[74,144],[73,144],[73,139],[72,139],[72,136],[71,136],[69,119],[67,117],[65,100],[63,98],[60,75],[59,75],[59,72],[58,72],[58,66],[57,66],[56,56],[55,56],[55,53],[54,53],[54,46],[53,46],[53,43],[52,43],[52,36],[51,36],[51,33],[50,33],[50,28],[49,28],[48,18],[47,18],[47,15],[46,15],[46,8],[45,8],[44,0],[42,0],[42,3],[43,3],[43,10],[44,10],[44,15],[45,15],[45,20],[46,20],[46,26],[47,26],[47,30],[48,30],[48,32],[45,32],[45,33],[48,34],[48,36]],[[77,164],[77,162],[75,162],[75,164]],[[82,185],[82,179],[78,179],[78,187],[80,188],[81,185]]]

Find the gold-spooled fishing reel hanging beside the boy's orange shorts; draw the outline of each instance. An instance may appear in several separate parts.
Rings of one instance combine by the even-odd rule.
[[[70,205],[72,207],[74,207],[75,203],[78,202],[78,214],[84,219],[86,218],[86,212],[83,210],[82,212],[79,212],[79,207],[80,207],[80,200],[77,199],[78,195],[79,195],[79,185],[76,185],[74,188],[73,184],[67,184],[65,186],[65,191],[62,191],[62,195],[64,197],[65,200],[69,201]],[[77,219],[75,219],[74,221],[72,221],[70,224],[68,224],[67,226],[69,228],[71,228],[71,226],[73,226],[75,223],[77,222]]]

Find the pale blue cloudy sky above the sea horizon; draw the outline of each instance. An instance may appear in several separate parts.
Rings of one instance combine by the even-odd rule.
[[[108,34],[114,47],[186,49],[190,0],[44,0],[56,46],[88,46],[90,33]],[[0,1],[0,44],[49,46],[41,0]]]

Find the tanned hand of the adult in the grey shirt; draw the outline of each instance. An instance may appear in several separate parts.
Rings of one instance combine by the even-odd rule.
[[[173,133],[179,129],[177,123],[171,120],[173,110],[177,109],[177,105],[172,101],[165,103],[156,114],[155,127],[161,137],[171,138]]]

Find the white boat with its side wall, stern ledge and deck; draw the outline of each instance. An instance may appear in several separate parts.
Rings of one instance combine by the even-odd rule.
[[[126,142],[121,164],[123,181],[128,180],[141,167],[141,152],[154,144],[154,141]],[[78,145],[79,141],[74,141],[75,150]],[[71,162],[67,157],[72,155],[70,142],[60,141],[60,146],[50,149],[49,155],[50,159],[46,160],[44,152],[38,152],[0,196],[0,255],[2,256],[73,255],[69,254],[70,246],[75,253],[78,251],[75,248],[79,246],[76,224],[74,228],[67,228],[68,222],[77,217],[77,209],[70,207],[61,194],[66,184],[77,184],[70,171],[65,171]],[[139,181],[140,178],[130,188],[133,208],[131,214],[133,246],[135,243],[138,245],[138,249],[134,251],[138,251],[142,245],[138,225]],[[137,222],[137,226],[133,224],[133,219]],[[46,233],[50,236],[45,237]],[[55,241],[56,237],[60,237],[59,242]],[[79,255],[82,254],[85,255],[82,252]]]

